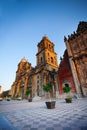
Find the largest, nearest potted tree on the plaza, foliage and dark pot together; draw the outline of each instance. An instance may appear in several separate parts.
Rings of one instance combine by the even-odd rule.
[[[50,96],[50,94],[51,94],[51,92],[52,92],[52,85],[51,85],[50,83],[44,85],[44,86],[43,86],[43,90],[44,90],[45,92],[48,92],[48,93],[49,93],[49,96]],[[51,97],[50,97],[50,101],[46,101],[45,103],[46,103],[46,106],[47,106],[48,109],[54,109],[54,108],[55,108],[55,102],[56,102],[56,101],[52,101],[52,100],[51,100]]]

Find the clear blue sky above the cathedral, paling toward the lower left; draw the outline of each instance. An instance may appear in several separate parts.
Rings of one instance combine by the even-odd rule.
[[[36,66],[37,44],[46,35],[58,56],[65,50],[64,36],[87,21],[87,0],[0,0],[0,85],[15,81],[17,65],[25,57]]]

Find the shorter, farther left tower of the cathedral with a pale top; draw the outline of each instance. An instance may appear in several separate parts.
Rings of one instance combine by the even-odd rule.
[[[28,80],[31,70],[32,70],[31,64],[25,58],[23,58],[18,64],[18,70],[16,71],[15,82],[11,87],[11,93],[13,97],[19,95],[22,98],[24,98],[26,89],[30,87],[28,84]]]

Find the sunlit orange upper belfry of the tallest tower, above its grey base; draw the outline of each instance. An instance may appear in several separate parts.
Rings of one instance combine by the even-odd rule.
[[[37,66],[41,67],[49,65],[53,69],[58,69],[57,54],[54,51],[54,43],[52,43],[46,36],[44,36],[37,46]]]

